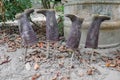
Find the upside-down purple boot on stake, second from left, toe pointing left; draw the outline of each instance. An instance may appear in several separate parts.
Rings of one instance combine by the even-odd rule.
[[[48,41],[58,41],[59,32],[58,32],[58,24],[55,17],[54,9],[43,9],[37,11],[37,13],[41,13],[46,17],[46,38]]]

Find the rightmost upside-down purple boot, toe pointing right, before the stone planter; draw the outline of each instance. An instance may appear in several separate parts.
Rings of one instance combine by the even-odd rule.
[[[95,15],[88,29],[85,48],[98,48],[99,29],[103,21],[110,20],[110,17],[105,15]]]

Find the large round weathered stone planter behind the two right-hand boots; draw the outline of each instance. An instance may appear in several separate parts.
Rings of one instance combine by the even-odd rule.
[[[120,44],[120,1],[118,0],[68,0],[64,4],[65,14],[75,14],[84,18],[80,45],[84,46],[88,27],[94,14],[108,15],[111,20],[102,23],[99,35],[99,47],[116,47]],[[65,38],[69,34],[70,20],[65,18]]]

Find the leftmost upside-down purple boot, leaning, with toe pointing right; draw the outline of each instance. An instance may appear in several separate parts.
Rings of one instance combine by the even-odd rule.
[[[27,9],[23,13],[17,14],[19,32],[24,46],[31,46],[38,42],[36,33],[34,32],[28,17],[34,12],[33,9]]]

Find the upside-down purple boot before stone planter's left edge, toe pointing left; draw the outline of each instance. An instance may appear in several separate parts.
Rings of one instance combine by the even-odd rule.
[[[79,42],[81,38],[80,29],[83,23],[83,18],[79,18],[73,14],[66,14],[65,16],[72,21],[72,26],[70,28],[70,33],[66,42],[66,46],[71,49],[76,49],[79,47]]]

